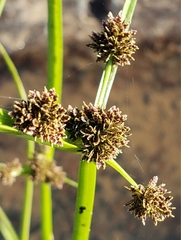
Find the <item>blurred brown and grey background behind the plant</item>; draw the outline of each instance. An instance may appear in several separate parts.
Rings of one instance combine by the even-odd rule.
[[[82,101],[94,102],[103,64],[85,44],[91,31],[101,29],[100,22],[109,10],[115,15],[123,0],[64,0],[64,106],[80,107]],[[0,41],[11,55],[26,90],[46,85],[47,51],[46,1],[8,0],[0,18]],[[120,67],[108,107],[118,106],[128,114],[131,127],[130,149],[124,149],[117,161],[136,182],[147,184],[155,175],[166,183],[174,196],[175,218],[154,227],[152,220],[134,219],[123,206],[130,200],[124,189],[129,185],[107,166],[98,171],[97,192],[90,240],[178,240],[180,236],[180,23],[179,1],[140,0],[132,29],[137,29],[140,48],[131,66]],[[15,85],[0,58],[0,107],[10,109],[18,97]],[[0,161],[15,157],[26,161],[26,142],[0,134]],[[79,157],[56,152],[56,160],[68,176],[77,180]],[[140,165],[141,164],[141,165]],[[0,205],[18,230],[24,194],[24,178],[12,187],[0,184]],[[40,237],[39,186],[35,187],[31,240]],[[53,190],[55,239],[71,239],[76,189],[65,185]],[[0,239],[3,239],[0,235]]]

